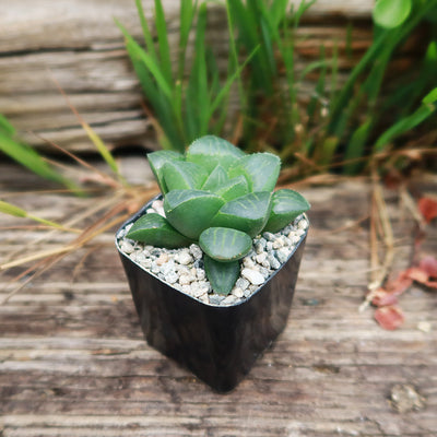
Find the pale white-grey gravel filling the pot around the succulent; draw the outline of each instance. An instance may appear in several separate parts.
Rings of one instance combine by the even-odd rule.
[[[154,201],[147,213],[162,213],[161,208],[162,203]],[[200,302],[226,306],[246,300],[281,268],[305,235],[308,220],[299,215],[279,233],[263,233],[253,238],[252,250],[241,260],[240,277],[227,296],[212,291],[203,269],[203,252],[198,245],[181,249],[143,245],[125,238],[130,226],[119,232],[117,243],[133,262]]]

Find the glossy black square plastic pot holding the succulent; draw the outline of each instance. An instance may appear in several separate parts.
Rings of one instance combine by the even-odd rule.
[[[153,199],[154,200],[154,199]],[[152,201],[151,201],[152,202]],[[120,231],[150,206],[127,221]],[[285,328],[306,234],[287,261],[248,299],[204,304],[164,283],[117,248],[147,343],[214,390],[232,390]]]

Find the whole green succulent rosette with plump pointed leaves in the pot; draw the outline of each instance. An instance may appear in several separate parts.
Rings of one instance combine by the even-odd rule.
[[[142,215],[127,237],[169,249],[197,243],[215,293],[231,292],[253,237],[279,232],[309,209],[296,191],[273,191],[281,161],[271,153],[246,154],[206,135],[185,154],[157,151],[147,157],[164,197],[165,217]]]

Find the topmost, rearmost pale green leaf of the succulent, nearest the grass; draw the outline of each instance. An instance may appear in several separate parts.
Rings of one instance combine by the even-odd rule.
[[[245,152],[222,138],[215,135],[201,137],[193,141],[187,150],[187,161],[197,163],[210,173],[220,164],[225,170]]]

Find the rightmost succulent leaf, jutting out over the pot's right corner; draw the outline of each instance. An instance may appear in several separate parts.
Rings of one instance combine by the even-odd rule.
[[[275,191],[272,198],[272,211],[264,231],[271,233],[281,231],[309,208],[310,204],[297,191],[288,189]]]

